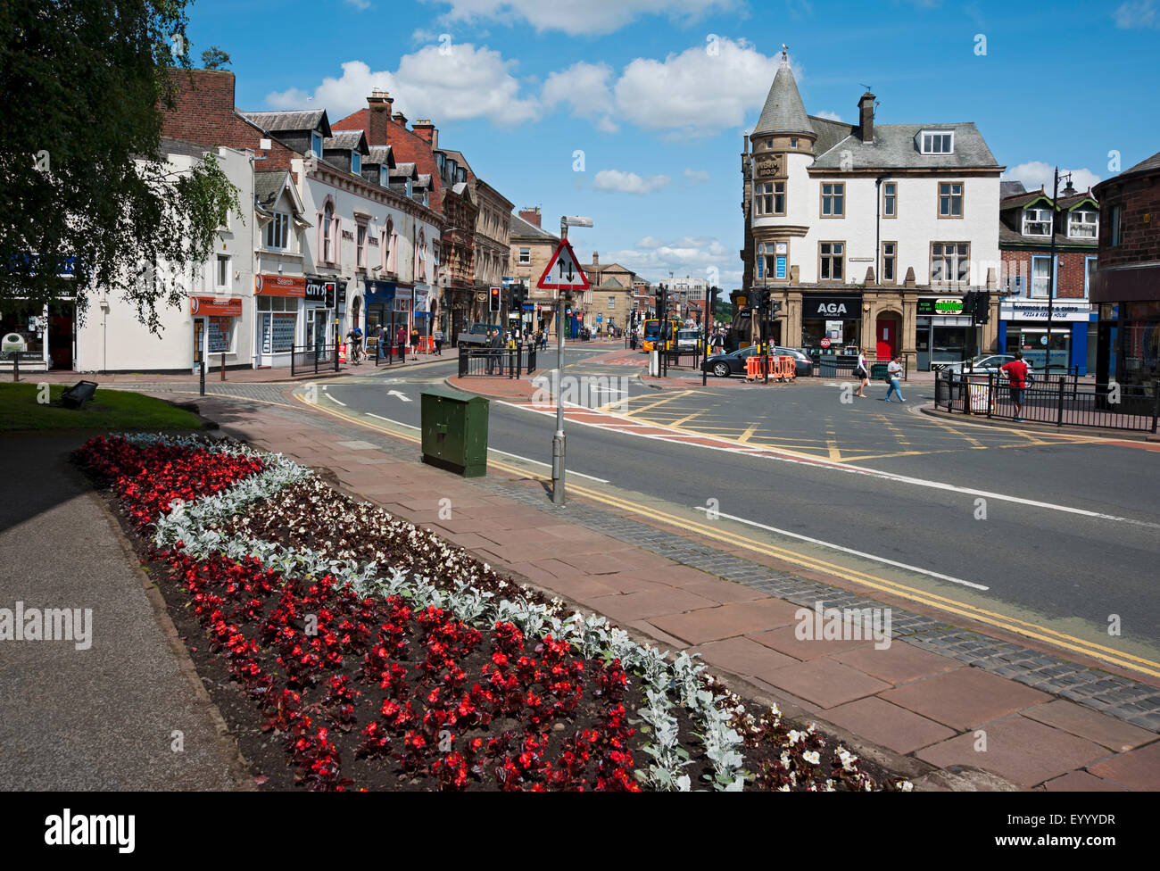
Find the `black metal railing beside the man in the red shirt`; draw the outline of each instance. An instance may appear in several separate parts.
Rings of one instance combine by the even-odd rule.
[[[1018,406],[1017,400],[1022,400]],[[1054,427],[1155,433],[1160,419],[1160,382],[1081,384],[1075,375],[1051,376],[1028,384],[1020,393],[1012,389],[1007,378],[995,372],[940,372],[935,378],[935,407]]]

